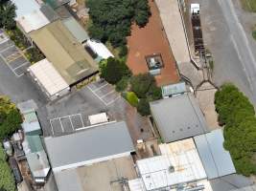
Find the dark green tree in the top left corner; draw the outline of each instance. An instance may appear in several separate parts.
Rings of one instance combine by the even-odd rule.
[[[0,28],[11,30],[15,27],[15,6],[10,0],[0,0]]]

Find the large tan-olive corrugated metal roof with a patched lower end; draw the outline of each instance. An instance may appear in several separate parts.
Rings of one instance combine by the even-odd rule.
[[[69,85],[98,71],[97,63],[60,20],[30,36]]]

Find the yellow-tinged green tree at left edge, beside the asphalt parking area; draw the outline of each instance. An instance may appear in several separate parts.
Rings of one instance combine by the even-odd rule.
[[[19,111],[7,96],[0,96],[0,139],[15,132],[22,122]]]

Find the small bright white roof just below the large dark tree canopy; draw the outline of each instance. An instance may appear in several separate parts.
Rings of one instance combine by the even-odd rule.
[[[101,42],[97,42],[95,40],[87,40],[86,45],[104,59],[107,59],[108,57],[114,57],[114,55],[108,51],[105,45]]]

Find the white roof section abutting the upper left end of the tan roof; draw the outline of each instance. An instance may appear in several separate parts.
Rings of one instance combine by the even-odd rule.
[[[27,33],[38,30],[50,23],[50,21],[40,10],[32,11],[17,18],[17,22]]]

